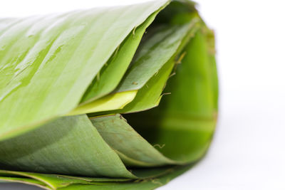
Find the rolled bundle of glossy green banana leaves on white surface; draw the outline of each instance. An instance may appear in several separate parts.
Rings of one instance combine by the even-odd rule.
[[[211,142],[214,52],[192,1],[0,19],[0,180],[166,184]]]

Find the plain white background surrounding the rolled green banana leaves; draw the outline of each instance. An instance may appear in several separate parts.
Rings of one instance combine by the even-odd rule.
[[[1,0],[0,17],[136,2]],[[217,37],[219,122],[207,157],[160,190],[285,189],[284,1],[197,2]]]

